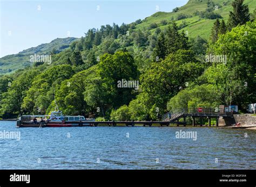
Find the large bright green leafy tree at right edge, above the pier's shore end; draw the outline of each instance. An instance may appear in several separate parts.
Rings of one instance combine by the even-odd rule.
[[[242,103],[251,103],[255,100],[255,35],[256,22],[248,22],[220,35],[219,40],[210,45],[214,54],[227,55],[226,64],[211,67],[206,71],[207,73],[211,70],[211,73],[207,73],[208,81],[217,81],[219,87],[224,89],[221,98],[223,103],[241,106]],[[219,80],[218,71],[222,72],[225,78]],[[209,80],[210,75],[215,76]]]

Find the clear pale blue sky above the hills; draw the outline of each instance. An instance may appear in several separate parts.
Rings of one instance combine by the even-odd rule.
[[[188,0],[0,1],[2,57],[56,38],[79,38],[89,28],[144,19],[157,12],[156,6],[171,12]]]

